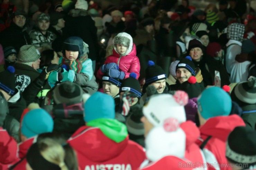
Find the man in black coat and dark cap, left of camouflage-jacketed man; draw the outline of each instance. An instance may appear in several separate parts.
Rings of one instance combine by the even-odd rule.
[[[23,10],[17,10],[14,13],[10,27],[0,33],[0,44],[3,48],[12,46],[16,51],[19,51],[20,47],[30,44],[30,38],[25,27],[26,17],[27,14]]]

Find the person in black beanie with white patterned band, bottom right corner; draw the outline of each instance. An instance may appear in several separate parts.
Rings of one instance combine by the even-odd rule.
[[[226,158],[232,170],[255,169],[256,131],[248,127],[236,127],[227,139]]]

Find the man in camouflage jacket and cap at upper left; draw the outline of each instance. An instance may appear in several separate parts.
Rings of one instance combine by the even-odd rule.
[[[37,47],[52,46],[56,35],[48,31],[50,26],[50,17],[46,13],[40,13],[37,17],[37,28],[31,30],[29,36],[31,43]]]

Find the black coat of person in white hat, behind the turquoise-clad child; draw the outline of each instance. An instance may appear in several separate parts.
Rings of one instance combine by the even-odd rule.
[[[63,38],[80,37],[89,45],[89,58],[95,61],[98,58],[97,27],[92,17],[83,9],[72,9],[65,18]]]

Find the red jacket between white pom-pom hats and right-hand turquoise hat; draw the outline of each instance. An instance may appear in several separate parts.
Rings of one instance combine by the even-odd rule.
[[[202,164],[206,163],[202,150],[195,143],[196,140],[200,137],[200,131],[198,127],[195,126],[195,123],[192,121],[186,121],[181,123],[180,127],[186,134],[186,150],[185,150],[185,158],[191,161],[196,167],[193,168],[203,168]]]

